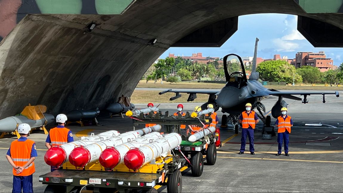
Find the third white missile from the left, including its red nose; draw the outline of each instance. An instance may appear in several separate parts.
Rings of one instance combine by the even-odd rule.
[[[162,135],[158,132],[153,132],[116,147],[107,147],[100,154],[99,162],[106,169],[112,170],[118,164],[124,162],[124,156],[131,148],[137,148],[147,143],[151,143],[161,137]]]

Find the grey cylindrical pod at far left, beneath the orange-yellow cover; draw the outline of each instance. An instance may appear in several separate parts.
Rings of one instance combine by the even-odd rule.
[[[22,123],[27,123],[30,125],[31,129],[34,128],[41,128],[45,126],[46,124],[50,124],[54,122],[55,117],[52,114],[43,113],[44,117],[43,119],[38,120],[32,120],[28,119],[25,116],[19,115],[19,116],[12,116],[12,117],[6,117],[4,119],[0,120],[0,132],[12,132],[17,129],[17,126]],[[45,124],[45,119],[47,120],[47,123]]]

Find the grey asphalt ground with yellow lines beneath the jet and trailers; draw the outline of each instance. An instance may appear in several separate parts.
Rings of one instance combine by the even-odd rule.
[[[182,171],[182,192],[342,192],[342,96],[337,98],[327,95],[325,104],[322,103],[322,96],[313,95],[307,99],[308,104],[285,99],[288,103],[288,114],[294,121],[289,137],[289,157],[284,156],[284,152],[281,156],[275,156],[277,136],[273,136],[272,140],[263,140],[261,122],[258,123],[254,134],[256,154],[249,154],[247,140],[245,154],[238,155],[241,134],[235,135],[233,126],[229,125],[228,128],[221,128],[223,146],[217,148],[217,162],[214,166],[205,165],[201,177],[192,177],[189,168]],[[276,101],[277,97],[271,96],[262,100],[262,103],[270,110]],[[185,103],[184,107],[186,111],[191,112],[194,106],[201,104]],[[145,108],[146,104],[135,106]],[[163,103],[159,110],[174,112],[176,106],[177,103]],[[217,125],[219,126],[223,113],[220,110],[217,113],[220,119]],[[69,125],[68,128],[72,130],[74,140],[90,133],[97,134],[107,130],[125,132],[133,129],[132,120],[128,117],[103,117],[98,121],[104,125],[81,127],[75,124]],[[275,119],[272,118],[272,123],[274,122]],[[29,136],[36,142],[38,150],[38,157],[35,160],[34,192],[44,191],[46,185],[38,182],[38,176],[50,171],[50,166],[44,162],[46,136],[43,131],[34,131]],[[0,152],[3,155],[0,159],[3,167],[0,173],[0,192],[12,191],[12,168],[5,154],[14,139],[13,135],[0,139]],[[167,192],[166,187],[161,187],[158,191]]]

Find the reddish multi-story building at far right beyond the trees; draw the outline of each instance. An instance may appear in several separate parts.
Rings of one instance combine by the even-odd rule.
[[[324,51],[318,53],[298,52],[295,54],[295,59],[291,64],[294,65],[295,68],[300,68],[302,66],[317,67],[320,72],[326,72],[336,68],[333,66],[333,60],[327,58]]]

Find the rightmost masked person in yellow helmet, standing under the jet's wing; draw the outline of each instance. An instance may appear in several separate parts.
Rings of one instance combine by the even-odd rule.
[[[287,115],[287,108],[282,107],[281,108],[281,116],[277,118],[275,125],[277,126],[277,143],[278,145],[278,151],[276,156],[281,155],[281,149],[282,149],[282,141],[285,143],[284,150],[285,150],[285,156],[288,155],[288,142],[289,142],[289,133],[291,133],[291,127],[293,126],[293,121],[291,116]]]

